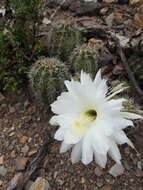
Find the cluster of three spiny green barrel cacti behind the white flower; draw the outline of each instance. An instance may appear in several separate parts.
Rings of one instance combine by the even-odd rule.
[[[36,97],[49,109],[49,105],[64,90],[64,81],[70,79],[70,73],[76,79],[81,70],[95,76],[99,56],[93,48],[81,45],[80,32],[69,24],[59,24],[51,29],[48,47],[49,56],[56,58],[36,61],[30,69],[29,78]]]

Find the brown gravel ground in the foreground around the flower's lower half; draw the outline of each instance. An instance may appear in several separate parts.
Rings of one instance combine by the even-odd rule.
[[[5,95],[5,103],[0,109],[0,189],[5,190],[8,182],[19,171],[24,172],[26,165],[34,158],[42,144],[45,128],[53,135],[56,127],[49,126],[41,109],[30,102],[24,94]],[[45,177],[52,190],[142,190],[143,189],[143,128],[142,124],[128,130],[128,136],[134,142],[139,154],[127,145],[120,147],[124,173],[117,178],[109,174],[114,165],[108,159],[106,169],[95,162],[88,166],[81,162],[71,164],[70,152],[59,154],[60,143],[53,141],[41,166],[31,180]],[[4,168],[2,168],[3,166]]]

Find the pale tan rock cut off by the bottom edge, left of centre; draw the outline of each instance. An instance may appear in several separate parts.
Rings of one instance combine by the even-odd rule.
[[[29,190],[49,190],[49,183],[42,177],[38,177]]]

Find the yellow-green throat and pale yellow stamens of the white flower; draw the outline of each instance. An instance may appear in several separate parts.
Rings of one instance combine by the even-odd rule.
[[[83,131],[88,124],[96,119],[96,117],[97,112],[94,109],[90,109],[82,113],[79,117],[79,120],[73,122],[76,132],[80,133]]]

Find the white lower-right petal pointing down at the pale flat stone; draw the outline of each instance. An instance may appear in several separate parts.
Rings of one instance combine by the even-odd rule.
[[[121,163],[120,160],[121,160],[121,154],[120,154],[120,151],[116,145],[116,143],[114,142],[111,142],[111,146],[110,146],[110,149],[109,149],[109,155],[111,156],[111,158],[117,162],[117,163]]]

